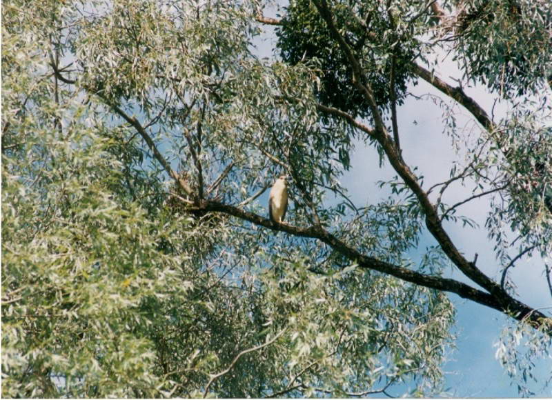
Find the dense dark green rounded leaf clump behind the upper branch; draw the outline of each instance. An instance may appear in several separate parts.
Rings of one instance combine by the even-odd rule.
[[[344,2],[333,10],[338,23],[346,27],[345,39],[362,61],[366,79],[371,81],[375,98],[384,110],[393,98],[402,103],[411,77],[408,61],[417,56],[419,46],[414,39],[416,26],[409,21],[415,11],[415,6],[402,1],[393,2],[391,7],[382,2]],[[352,70],[346,57],[311,1],[290,1],[276,33],[284,61],[315,64],[320,77],[316,93],[322,103],[353,116],[370,115],[362,93],[351,87]],[[390,74],[394,76],[393,86],[389,84]]]

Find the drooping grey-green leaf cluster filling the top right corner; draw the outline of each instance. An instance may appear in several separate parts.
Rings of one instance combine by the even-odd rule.
[[[543,90],[552,77],[549,1],[457,1],[460,63],[504,97]],[[485,40],[482,40],[484,38]]]

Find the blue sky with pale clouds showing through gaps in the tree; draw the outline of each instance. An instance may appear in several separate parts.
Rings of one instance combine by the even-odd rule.
[[[274,17],[274,10],[266,10],[265,14]],[[273,28],[265,28],[262,37],[254,43],[258,57],[272,57],[275,41]],[[450,60],[443,62],[440,58],[440,65],[445,68],[440,70],[443,72],[440,77],[456,86],[457,83],[451,77],[461,77],[461,74],[455,64]],[[442,97],[440,92],[421,80],[417,86],[411,86],[409,90],[417,96],[430,93]],[[490,96],[484,88],[464,88],[464,90],[488,114],[491,114],[495,99],[493,96]],[[451,103],[449,99],[446,100]],[[477,124],[469,112],[461,107],[457,112],[460,116],[458,126],[464,126],[467,130],[477,129]],[[498,104],[494,112],[495,115],[500,115],[506,112],[506,106]],[[397,114],[404,159],[411,168],[414,166],[419,168],[420,174],[425,177],[424,187],[428,188],[433,183],[448,179],[451,161],[462,160],[463,156],[455,154],[451,139],[443,133],[442,110],[429,99],[420,101],[411,98],[398,108]],[[375,203],[378,199],[385,199],[388,192],[379,188],[376,182],[391,179],[393,176],[395,172],[391,167],[384,166],[382,169],[378,167],[377,152],[373,148],[357,143],[352,157],[352,168],[344,175],[342,183],[348,188],[357,206],[363,206],[366,201]],[[359,182],[362,184],[359,185]],[[469,196],[469,190],[471,190],[469,186],[466,188],[460,185],[451,186],[449,188],[451,196],[444,200],[449,204],[453,203],[457,199]],[[462,206],[459,212],[475,219],[480,226],[484,226],[486,213],[489,211],[487,201],[486,197],[471,201]],[[492,251],[493,242],[487,239],[484,229],[453,225],[446,226],[446,229],[466,257],[472,259],[471,257],[477,252],[477,266],[488,276],[497,279],[498,263]],[[437,244],[436,241],[426,234],[420,243],[420,250],[435,244]],[[511,277],[517,284],[517,299],[537,308],[552,306],[551,295],[542,274],[542,263],[542,259],[535,257],[528,261],[518,261],[515,267],[511,268]],[[449,277],[469,282],[453,270],[449,270]],[[461,299],[455,294],[449,294],[449,298],[457,310],[455,329],[458,336],[457,348],[444,365],[445,387],[449,388],[449,395],[451,397],[519,397],[516,386],[511,385],[511,379],[495,358],[497,349],[494,345],[499,340],[500,332],[509,318],[491,308]],[[551,359],[539,363],[536,376],[548,379],[551,363]],[[537,397],[552,397],[552,388],[543,389],[542,384],[529,386],[529,388]],[[395,394],[393,390],[390,392]]]

